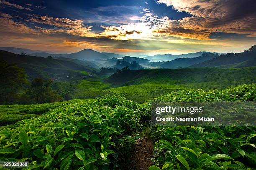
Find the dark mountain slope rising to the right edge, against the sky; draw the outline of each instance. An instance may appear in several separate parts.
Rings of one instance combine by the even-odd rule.
[[[256,66],[256,45],[241,53],[228,53],[190,67],[237,68]]]

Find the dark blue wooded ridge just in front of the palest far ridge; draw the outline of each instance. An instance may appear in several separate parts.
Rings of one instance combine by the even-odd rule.
[[[161,67],[161,68],[169,68],[169,69],[175,69],[175,68],[184,68],[189,67],[190,65],[194,65],[200,62],[204,62],[206,60],[210,60],[212,58],[218,57],[218,54],[213,53],[203,53],[199,57],[192,57],[192,58],[177,58],[172,61],[166,61],[166,62],[155,62],[152,63],[152,67]]]

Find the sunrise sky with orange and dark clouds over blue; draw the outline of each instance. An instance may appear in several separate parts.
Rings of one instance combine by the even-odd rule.
[[[0,0],[0,46],[124,55],[242,52],[255,0]]]

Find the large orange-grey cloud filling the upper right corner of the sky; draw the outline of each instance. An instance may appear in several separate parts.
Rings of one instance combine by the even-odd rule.
[[[248,33],[249,36],[256,36],[256,3],[253,0],[235,3],[233,0],[158,0],[157,2],[193,15],[173,21],[169,28],[164,28],[159,32],[173,35],[176,30],[184,28],[183,30],[195,30],[199,33],[187,32],[185,37],[198,39],[207,39],[214,31]],[[200,35],[202,32],[204,35]]]

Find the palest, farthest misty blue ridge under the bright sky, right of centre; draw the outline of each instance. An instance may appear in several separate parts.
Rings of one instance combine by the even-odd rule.
[[[175,60],[177,58],[192,58],[192,57],[199,57],[200,55],[202,55],[203,53],[211,53],[211,52],[206,52],[206,51],[200,51],[200,52],[195,52],[195,53],[188,53],[188,54],[181,54],[181,55],[172,55],[172,54],[158,54],[158,55],[154,55],[154,56],[148,56],[148,57],[144,57],[145,59],[157,62],[157,61],[172,61]],[[216,52],[212,52],[212,53],[216,53]]]

